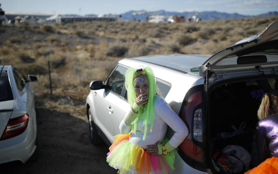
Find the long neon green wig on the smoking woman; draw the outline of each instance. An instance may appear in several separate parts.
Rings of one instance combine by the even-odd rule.
[[[143,71],[136,73],[136,69],[142,68]],[[125,73],[125,88],[127,89],[127,100],[131,106],[133,106],[136,94],[134,91],[134,78],[138,75],[147,75],[149,79],[149,99],[145,107],[143,105],[140,106],[139,113],[137,114],[135,120],[131,123],[132,133],[136,135],[137,124],[140,119],[144,119],[143,124],[145,125],[145,131],[143,140],[145,140],[147,134],[147,124],[151,124],[151,131],[153,129],[153,121],[154,121],[154,109],[153,109],[153,98],[156,95],[156,79],[153,74],[153,70],[151,67],[146,66],[145,68],[140,65],[139,67],[129,68]]]

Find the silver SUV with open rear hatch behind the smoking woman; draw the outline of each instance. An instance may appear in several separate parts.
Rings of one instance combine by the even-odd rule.
[[[277,48],[275,21],[261,34],[213,56],[175,54],[120,60],[104,82],[90,83],[86,105],[92,142],[99,143],[101,137],[111,144],[120,133],[120,122],[130,109],[125,72],[129,67],[150,66],[160,95],[189,128],[173,173],[220,173],[212,156],[229,144],[244,147],[252,156],[253,168],[257,165],[253,133],[260,95],[278,90]],[[171,128],[167,135],[173,135]]]

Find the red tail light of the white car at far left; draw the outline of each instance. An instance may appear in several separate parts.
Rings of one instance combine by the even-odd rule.
[[[27,113],[23,116],[10,119],[0,141],[15,137],[23,133],[28,125],[28,122],[29,115]]]

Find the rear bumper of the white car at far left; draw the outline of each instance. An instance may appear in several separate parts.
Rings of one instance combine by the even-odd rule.
[[[36,150],[36,131],[32,127],[13,138],[0,141],[0,164],[19,160],[25,163]]]

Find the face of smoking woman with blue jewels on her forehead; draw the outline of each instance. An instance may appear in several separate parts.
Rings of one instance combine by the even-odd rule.
[[[148,76],[138,76],[133,80],[134,91],[136,97],[141,94],[149,95],[149,79]]]

